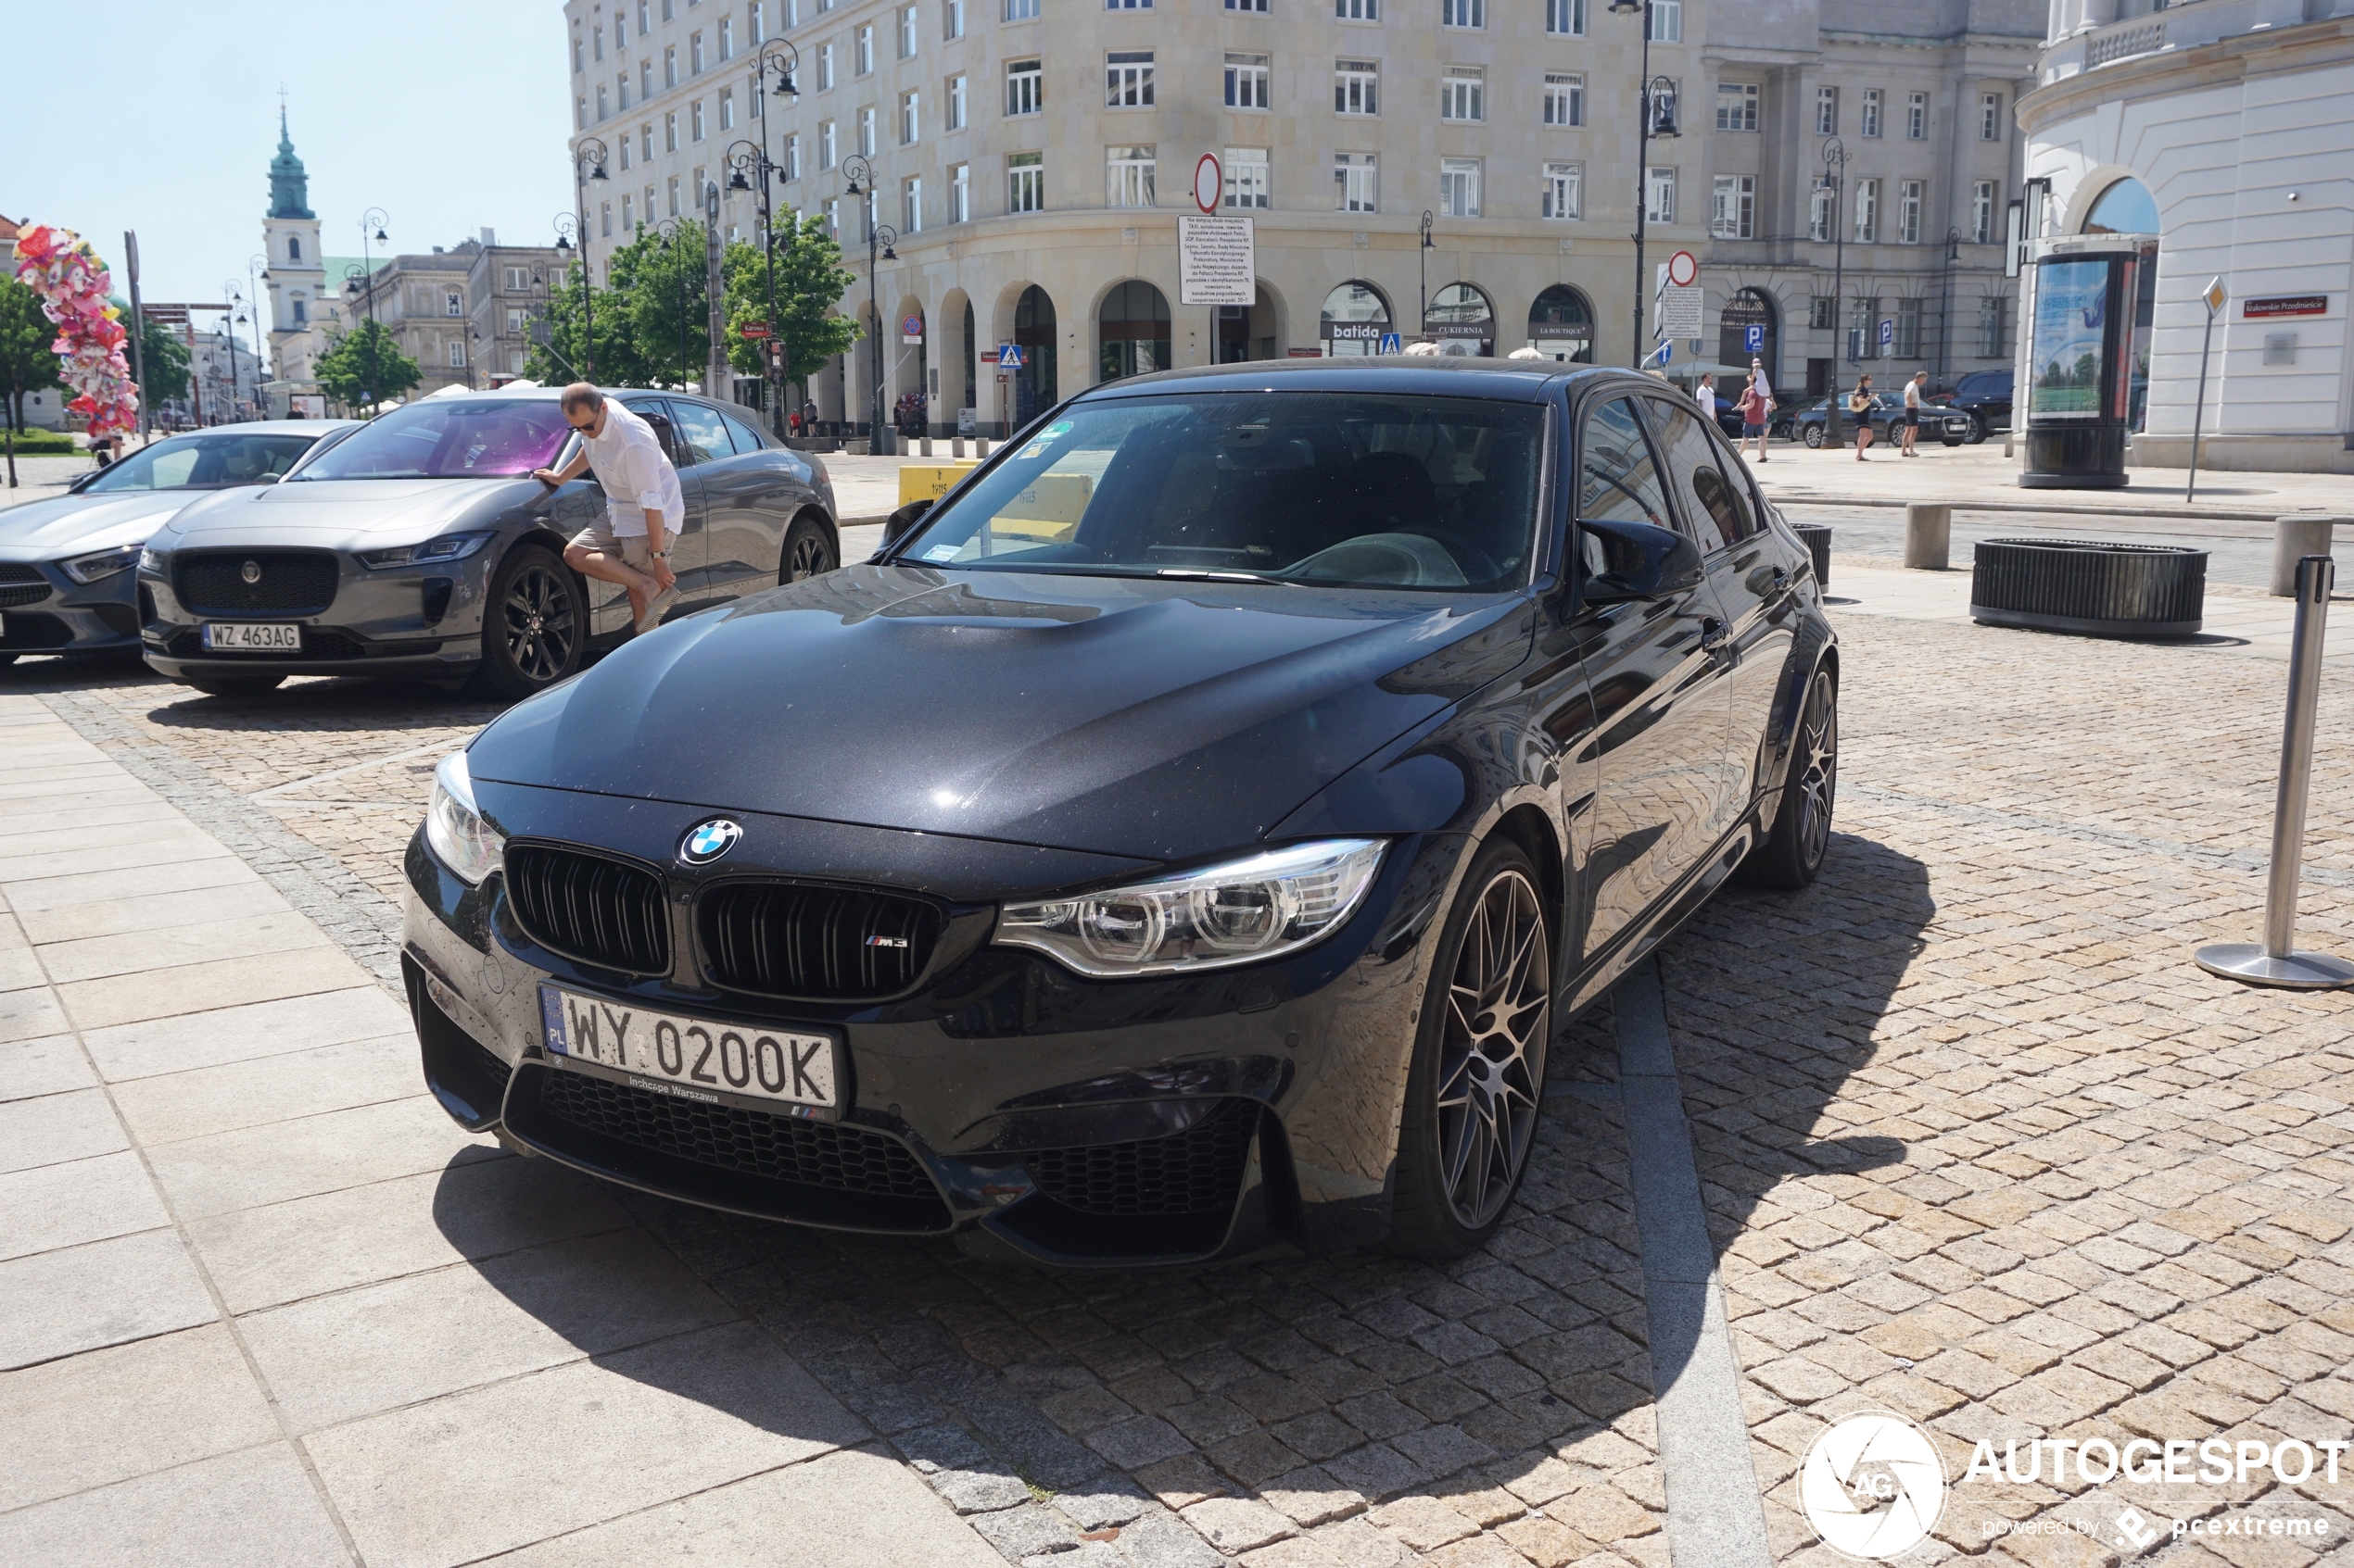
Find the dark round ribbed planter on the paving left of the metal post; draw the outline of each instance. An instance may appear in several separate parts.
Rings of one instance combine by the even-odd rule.
[[[2206,609],[2206,550],[2097,538],[1987,538],[1970,618],[2093,637],[2189,637]]]

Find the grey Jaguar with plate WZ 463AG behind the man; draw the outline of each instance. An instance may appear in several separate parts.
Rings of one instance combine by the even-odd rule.
[[[833,487],[746,409],[610,390],[661,435],[687,515],[671,543],[687,616],[843,559]],[[210,496],[139,557],[146,661],[214,696],[287,675],[471,679],[520,698],[631,635],[629,597],[563,562],[605,512],[596,480],[548,489],[579,435],[556,388],[424,397],[299,463]]]

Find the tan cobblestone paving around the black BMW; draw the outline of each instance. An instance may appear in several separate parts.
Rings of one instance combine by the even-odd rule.
[[[2349,1436],[2354,997],[2189,964],[2257,936],[2283,668],[1855,614],[1841,635],[1824,877],[1728,893],[1664,952],[1775,1561],[1838,1561],[1794,1476],[1857,1408],[1926,1422],[1956,1481],[1980,1439],[2024,1472],[2036,1436]],[[177,759],[184,790],[386,893],[431,762],[490,715],[358,682],[221,703],[0,679],[71,684],[52,705],[101,703],[111,750]],[[2349,722],[2340,684],[2300,931],[2354,954]],[[624,1201],[1008,1559],[1664,1566],[1608,1004],[1556,1046],[1547,1112],[1507,1229],[1452,1267],[1045,1276]],[[1980,1474],[1900,1561],[2114,1563],[2135,1507],[2147,1561],[2302,1566],[2354,1530],[2349,1490]],[[2243,1507],[2330,1533],[2170,1533]]]

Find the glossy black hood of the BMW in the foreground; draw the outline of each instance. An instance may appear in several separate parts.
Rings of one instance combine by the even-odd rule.
[[[624,644],[468,769],[1182,860],[1262,837],[1530,635],[1521,597],[850,567]]]

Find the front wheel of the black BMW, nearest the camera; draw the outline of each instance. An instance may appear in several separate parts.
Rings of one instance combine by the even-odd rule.
[[[1485,1246],[1528,1175],[1554,1027],[1542,886],[1528,851],[1497,837],[1448,910],[1398,1126],[1389,1244],[1410,1258]]]

